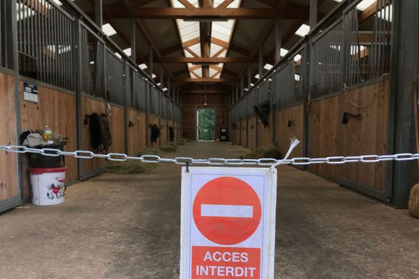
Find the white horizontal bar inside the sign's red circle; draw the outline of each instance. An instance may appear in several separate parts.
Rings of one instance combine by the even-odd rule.
[[[253,218],[253,206],[228,204],[201,204],[201,216]]]

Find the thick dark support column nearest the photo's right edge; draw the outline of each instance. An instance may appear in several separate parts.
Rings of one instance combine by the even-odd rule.
[[[414,153],[415,115],[413,94],[418,74],[419,1],[399,0],[393,3],[392,50],[390,62],[390,153]],[[394,133],[392,133],[394,132]],[[392,148],[391,148],[392,146]],[[390,204],[406,208],[413,186],[413,161],[392,162]],[[390,191],[391,190],[391,191]]]

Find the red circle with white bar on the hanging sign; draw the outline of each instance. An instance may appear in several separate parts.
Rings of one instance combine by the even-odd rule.
[[[234,177],[207,182],[196,194],[192,211],[201,234],[222,245],[249,239],[261,216],[258,194],[248,183]]]

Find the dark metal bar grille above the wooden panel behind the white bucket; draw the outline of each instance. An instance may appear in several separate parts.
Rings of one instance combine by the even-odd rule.
[[[50,0],[17,0],[16,4],[20,74],[74,90],[73,17]]]

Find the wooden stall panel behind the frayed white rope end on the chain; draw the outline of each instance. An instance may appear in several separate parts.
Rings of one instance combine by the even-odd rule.
[[[290,126],[288,127],[288,121]],[[304,141],[304,105],[297,105],[277,112],[277,135],[276,142],[281,150],[282,156],[285,156],[291,143],[291,138],[297,138]],[[293,150],[291,157],[302,157],[305,143],[302,142]]]

